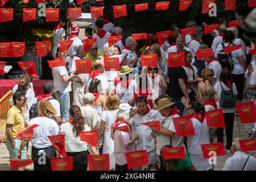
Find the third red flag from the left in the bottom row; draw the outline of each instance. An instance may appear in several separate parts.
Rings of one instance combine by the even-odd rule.
[[[87,155],[88,171],[109,171],[109,154]]]

